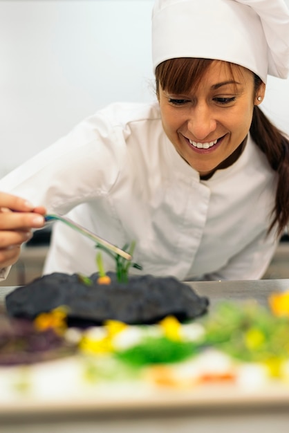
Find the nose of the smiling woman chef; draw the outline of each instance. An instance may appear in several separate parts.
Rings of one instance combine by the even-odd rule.
[[[187,129],[196,140],[205,140],[215,131],[216,123],[214,113],[207,104],[196,104],[187,120]]]

